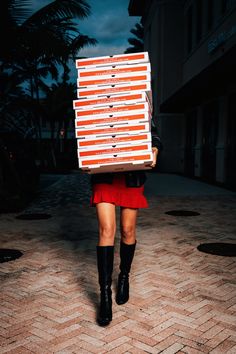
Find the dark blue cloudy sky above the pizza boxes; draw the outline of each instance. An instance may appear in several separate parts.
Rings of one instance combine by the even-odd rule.
[[[50,3],[50,0],[32,0],[34,10]],[[130,30],[139,17],[128,14],[129,0],[88,0],[92,15],[79,22],[83,34],[96,38],[95,47],[81,50],[79,56],[94,57],[122,54],[129,46],[127,39],[132,36]]]

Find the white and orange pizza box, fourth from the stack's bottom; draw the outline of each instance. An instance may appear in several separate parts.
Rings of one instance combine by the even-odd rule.
[[[90,126],[89,128],[75,129],[77,139],[85,139],[92,136],[106,136],[106,135],[118,135],[118,134],[141,134],[144,132],[150,132],[150,122],[138,123],[138,124],[120,124],[120,125],[108,125],[106,127]]]

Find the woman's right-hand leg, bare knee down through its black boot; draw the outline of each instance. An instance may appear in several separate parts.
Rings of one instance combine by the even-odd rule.
[[[121,208],[120,215],[120,274],[116,302],[125,304],[129,300],[129,272],[136,247],[136,221],[138,209]]]

